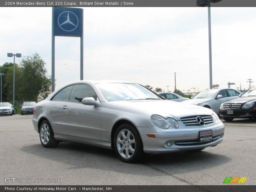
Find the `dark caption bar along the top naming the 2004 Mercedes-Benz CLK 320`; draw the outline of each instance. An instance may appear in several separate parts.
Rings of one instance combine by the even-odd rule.
[[[211,0],[200,0],[207,2]],[[212,1],[214,2],[214,1]],[[1,0],[1,7],[196,7],[197,0]],[[255,0],[221,0],[212,7],[256,7]]]

